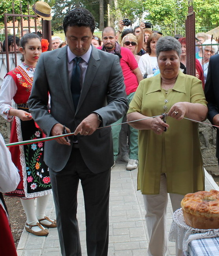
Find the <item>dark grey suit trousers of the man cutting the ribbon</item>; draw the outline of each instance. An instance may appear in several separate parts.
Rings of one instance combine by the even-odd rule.
[[[107,256],[109,242],[110,170],[94,174],[85,165],[80,150],[72,148],[60,172],[50,171],[63,256],[81,256],[77,222],[77,189],[83,188],[88,256]]]

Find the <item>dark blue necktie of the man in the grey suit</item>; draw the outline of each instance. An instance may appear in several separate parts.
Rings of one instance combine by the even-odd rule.
[[[71,83],[71,91],[72,91],[72,99],[74,102],[74,107],[75,111],[77,109],[77,105],[79,102],[79,98],[81,95],[81,69],[79,66],[79,63],[81,62],[82,58],[81,57],[75,57],[74,62],[75,62],[75,67],[72,71],[72,83]]]

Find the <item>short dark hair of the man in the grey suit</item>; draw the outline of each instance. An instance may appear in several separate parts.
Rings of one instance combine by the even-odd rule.
[[[90,31],[94,33],[94,29],[96,27],[94,17],[85,8],[78,7],[70,11],[63,20],[63,30],[64,34],[66,34],[66,31],[68,29],[68,26],[85,26],[87,28],[90,28]]]

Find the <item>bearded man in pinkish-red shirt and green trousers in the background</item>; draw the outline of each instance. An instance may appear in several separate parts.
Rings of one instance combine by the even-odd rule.
[[[106,27],[102,32],[103,47],[99,47],[99,49],[105,52],[118,55],[120,57],[120,65],[121,65],[124,82],[125,82],[125,91],[127,94],[128,102],[130,103],[138,87],[138,84],[143,79],[143,77],[138,67],[138,63],[136,62],[131,50],[121,47],[116,40],[117,40],[117,36],[114,28]],[[123,120],[123,117],[120,118],[120,120],[116,121],[116,123],[121,123],[122,120]],[[126,170],[131,171],[138,167],[138,131],[133,127],[129,127],[129,129],[130,129],[129,159],[126,160],[125,156],[123,155],[121,159],[123,161],[128,161]],[[119,153],[120,130],[121,130],[121,125],[112,126],[114,161],[116,161]]]

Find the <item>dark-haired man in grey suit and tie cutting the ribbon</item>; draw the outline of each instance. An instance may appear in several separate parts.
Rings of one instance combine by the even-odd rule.
[[[67,133],[77,135],[70,142],[59,138],[45,143],[44,161],[50,169],[62,255],[81,256],[76,218],[80,179],[87,254],[107,256],[114,160],[111,128],[97,127],[114,123],[127,111],[123,75],[118,56],[91,46],[95,21],[89,11],[74,9],[64,18],[63,28],[68,46],[40,56],[29,111],[48,136],[61,135],[63,125]]]

